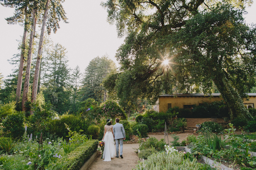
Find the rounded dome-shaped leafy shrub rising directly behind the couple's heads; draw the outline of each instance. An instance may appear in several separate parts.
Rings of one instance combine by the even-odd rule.
[[[116,117],[121,117],[126,120],[127,115],[125,111],[118,105],[117,102],[108,100],[101,105],[101,116],[105,118],[115,119]]]

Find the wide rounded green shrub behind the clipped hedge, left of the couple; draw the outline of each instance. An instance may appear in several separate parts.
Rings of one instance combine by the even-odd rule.
[[[47,132],[57,137],[63,136],[65,139],[68,139],[68,130],[65,128],[64,124],[67,124],[71,130],[76,132],[83,130],[83,134],[87,133],[87,129],[89,127],[89,123],[81,116],[75,116],[73,114],[64,114],[59,116],[58,119],[49,120],[47,124]]]

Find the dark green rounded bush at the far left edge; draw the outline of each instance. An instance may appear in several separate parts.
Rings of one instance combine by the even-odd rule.
[[[22,137],[25,128],[24,121],[25,115],[23,112],[15,112],[9,114],[6,119],[3,120],[3,131],[7,136],[12,136],[13,138]]]

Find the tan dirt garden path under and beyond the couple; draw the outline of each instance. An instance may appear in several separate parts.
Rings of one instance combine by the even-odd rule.
[[[180,133],[177,136],[180,137],[179,142],[186,138],[186,136],[191,135],[192,133]],[[164,135],[149,135],[156,137],[158,140],[164,139]],[[172,141],[172,137],[169,136],[169,141]],[[99,156],[94,162],[89,170],[132,170],[135,168],[139,161],[137,153],[135,153],[133,148],[139,148],[139,144],[124,144],[123,145],[123,159],[114,158],[109,162],[103,161],[101,156]]]

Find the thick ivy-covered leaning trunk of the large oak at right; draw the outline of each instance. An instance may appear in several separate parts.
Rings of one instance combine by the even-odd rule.
[[[247,111],[247,109],[244,107],[244,103],[240,95],[232,87],[226,77],[215,76],[213,82],[217,86],[218,91],[220,91],[221,96],[227,104],[231,119],[236,117],[252,118],[249,111]]]

